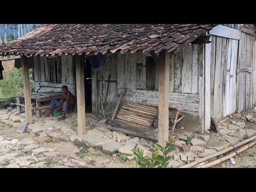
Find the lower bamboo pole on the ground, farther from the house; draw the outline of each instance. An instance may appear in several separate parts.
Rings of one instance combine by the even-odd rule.
[[[228,159],[230,159],[230,158],[236,156],[237,154],[239,154],[239,153],[241,153],[241,152],[247,150],[248,148],[252,147],[252,146],[255,145],[255,144],[256,144],[256,139],[253,140],[252,142],[250,142],[249,144],[246,144],[246,145],[240,147],[238,150],[236,150],[236,152],[232,152],[231,154],[228,154],[228,155],[226,155],[226,156],[224,156],[224,157],[222,157],[222,158],[219,158],[219,159],[217,159],[217,160],[214,160],[214,161],[212,161],[212,162],[206,163],[206,164],[204,164],[204,165],[202,165],[202,166],[199,166],[199,167],[197,167],[197,168],[209,168],[209,167],[212,167],[212,166],[214,166],[214,165],[216,165],[216,164],[219,164],[219,163],[221,163],[221,162],[224,162],[224,161],[226,161],[226,160],[228,160]]]

